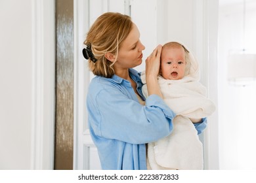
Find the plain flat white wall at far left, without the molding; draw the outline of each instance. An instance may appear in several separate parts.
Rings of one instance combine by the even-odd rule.
[[[0,3],[0,169],[30,169],[32,3]]]

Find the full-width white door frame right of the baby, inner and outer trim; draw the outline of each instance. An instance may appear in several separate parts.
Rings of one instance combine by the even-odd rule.
[[[193,50],[201,66],[201,82],[207,94],[216,105],[217,88],[217,46],[218,46],[218,2],[194,0]],[[219,169],[218,112],[208,118],[203,133],[205,169]]]

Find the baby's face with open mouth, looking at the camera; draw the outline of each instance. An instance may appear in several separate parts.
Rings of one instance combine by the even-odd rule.
[[[186,59],[184,48],[163,48],[161,51],[161,76],[167,80],[184,77]]]

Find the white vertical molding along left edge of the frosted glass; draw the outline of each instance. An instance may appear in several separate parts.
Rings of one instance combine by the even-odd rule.
[[[31,169],[54,167],[55,2],[32,1]]]

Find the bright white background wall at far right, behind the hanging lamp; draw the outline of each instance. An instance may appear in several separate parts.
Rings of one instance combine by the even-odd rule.
[[[256,1],[220,0],[219,12],[219,154],[220,169],[256,169],[256,84],[228,83],[228,56],[256,54]],[[245,20],[245,22],[244,22]],[[245,23],[245,27],[244,24]]]

